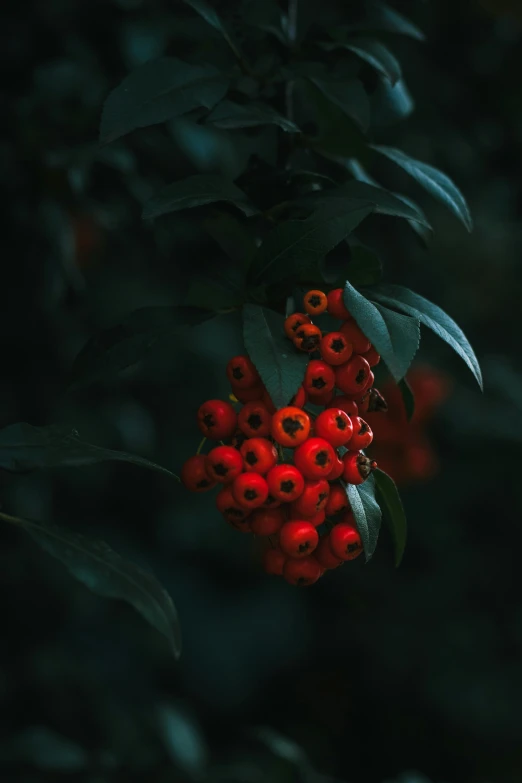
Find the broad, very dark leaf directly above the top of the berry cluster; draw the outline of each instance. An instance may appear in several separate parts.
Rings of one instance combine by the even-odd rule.
[[[300,274],[317,279],[319,266],[371,212],[348,199],[320,207],[305,220],[280,223],[258,249],[252,262],[254,282],[277,283]]]

